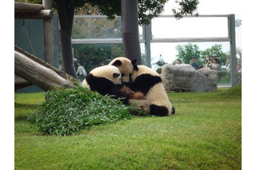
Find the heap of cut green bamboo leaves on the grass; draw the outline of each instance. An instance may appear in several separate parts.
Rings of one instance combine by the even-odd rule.
[[[131,119],[128,109],[119,100],[77,86],[47,92],[46,101],[42,103],[38,113],[28,119],[37,125],[38,130],[65,136],[91,125]]]

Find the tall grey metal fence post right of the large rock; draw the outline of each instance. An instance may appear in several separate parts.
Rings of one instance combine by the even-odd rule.
[[[230,77],[231,86],[234,87],[238,84],[238,73],[236,70],[237,57],[236,57],[236,45],[235,45],[235,16],[230,14],[229,17],[230,28]]]

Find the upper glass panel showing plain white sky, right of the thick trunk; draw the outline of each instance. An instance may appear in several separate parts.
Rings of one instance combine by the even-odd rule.
[[[228,37],[227,18],[154,18],[153,38]]]

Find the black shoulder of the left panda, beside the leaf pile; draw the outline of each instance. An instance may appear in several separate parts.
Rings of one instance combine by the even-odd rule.
[[[114,83],[105,77],[96,77],[92,73],[86,76],[86,81],[90,85],[90,90],[97,91],[102,95],[110,93],[110,89],[115,87]]]

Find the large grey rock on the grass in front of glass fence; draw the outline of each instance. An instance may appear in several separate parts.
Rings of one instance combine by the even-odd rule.
[[[195,70],[191,65],[163,65],[162,83],[167,92],[212,92],[217,90],[217,71]]]

